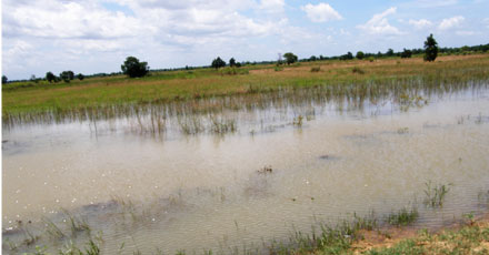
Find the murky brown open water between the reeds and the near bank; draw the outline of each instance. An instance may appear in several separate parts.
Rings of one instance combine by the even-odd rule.
[[[239,131],[226,135],[161,139],[113,122],[97,134],[84,122],[3,131],[3,252],[32,249],[6,245],[26,230],[41,236],[34,245],[61,247],[68,237],[44,230],[48,218],[70,233],[61,208],[101,232],[108,254],[122,243],[128,254],[243,252],[318,222],[371,211],[382,218],[403,206],[420,210],[418,225],[438,226],[487,208],[488,95],[446,95],[408,111],[312,105],[317,114],[301,125],[291,122],[303,109],[234,112]],[[423,205],[428,181],[450,184],[442,208]]]

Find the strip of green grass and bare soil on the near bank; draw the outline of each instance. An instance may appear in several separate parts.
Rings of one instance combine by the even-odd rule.
[[[269,254],[366,254],[366,255],[398,255],[398,254],[488,254],[489,253],[489,224],[487,221],[479,224],[447,228],[437,234],[426,230],[419,231],[413,237],[389,238],[388,244],[373,245],[361,236],[362,228],[358,224],[343,223],[337,227],[321,226],[319,234],[307,235],[296,232],[289,243],[272,243],[268,247]],[[89,239],[83,248],[77,247],[72,242],[58,251],[61,255],[99,255],[100,243]],[[48,255],[46,246],[37,246],[34,252],[26,254]],[[123,244],[119,253],[123,251]],[[233,251],[233,254],[239,254]],[[134,252],[134,254],[141,254]],[[157,254],[162,254],[157,249]],[[174,254],[184,255],[183,249]],[[203,254],[213,254],[204,249]],[[258,249],[244,249],[243,254],[263,254]]]

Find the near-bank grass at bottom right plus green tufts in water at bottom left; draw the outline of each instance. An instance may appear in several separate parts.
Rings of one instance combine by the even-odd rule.
[[[263,173],[271,172],[271,166],[265,166]],[[259,172],[260,172],[259,171]],[[122,211],[132,211],[136,204],[129,200],[114,198],[117,203],[122,207]],[[80,225],[80,220],[70,214],[68,211],[63,212],[63,216],[72,218],[68,221],[66,231],[73,230],[72,226]],[[403,207],[396,213],[390,214],[387,217],[387,223],[396,226],[406,226],[418,218],[418,211],[416,207],[408,210]],[[229,247],[232,254],[369,254],[369,255],[391,255],[391,254],[487,254],[489,251],[489,217],[479,221],[476,220],[473,214],[470,214],[470,221],[462,223],[462,226],[456,226],[456,228],[445,228],[445,231],[438,234],[429,234],[428,231],[421,231],[415,236],[407,235],[409,230],[405,228],[406,233],[397,232],[395,228],[386,227],[379,224],[379,217],[373,212],[367,215],[359,216],[353,214],[349,220],[341,220],[335,225],[319,224],[318,227],[313,227],[312,232],[303,233],[295,231],[291,233],[288,239],[282,242],[265,242],[262,248],[250,246],[243,247],[243,251],[239,251],[238,247]],[[56,228],[59,232],[61,230],[52,222],[44,221],[47,228]],[[237,222],[234,222],[238,228]],[[50,226],[51,225],[51,226]],[[72,225],[72,226],[71,226]],[[131,225],[132,227],[134,225]],[[78,228],[78,227],[77,227]],[[319,231],[318,231],[319,230]],[[402,228],[401,228],[402,230]],[[48,235],[49,233],[46,232]],[[98,255],[101,254],[103,239],[101,233],[97,236],[90,234],[84,241],[80,241],[78,246],[72,238],[77,238],[74,235],[58,235],[59,239],[52,244],[57,244],[62,241],[63,245],[56,248],[57,254],[61,255]],[[43,238],[43,237],[41,237]],[[376,243],[377,242],[377,243]],[[379,243],[380,242],[380,243]],[[28,248],[31,251],[26,254],[40,254],[47,255],[47,246],[40,246],[36,244],[14,244],[4,239],[4,243],[10,246],[11,252],[21,252]],[[58,243],[59,244],[59,243]],[[116,254],[128,253],[130,251],[124,249],[124,243],[118,246],[118,251],[113,251]],[[136,247],[133,254],[142,254],[139,248]],[[50,248],[49,251],[53,251]],[[203,249],[203,254],[213,254],[212,249]],[[162,254],[157,249],[157,254]],[[186,254],[184,249],[179,249],[176,254]],[[196,254],[196,253],[193,253]]]

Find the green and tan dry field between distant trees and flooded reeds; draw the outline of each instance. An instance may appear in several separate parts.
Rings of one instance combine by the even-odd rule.
[[[295,65],[248,65],[241,74],[222,70],[153,72],[141,79],[123,75],[91,78],[70,83],[47,81],[13,82],[2,86],[2,115],[36,114],[47,111],[77,111],[122,104],[173,102],[222,95],[270,92],[329,85],[356,85],[419,80],[450,82],[487,81],[489,54],[440,57],[436,62],[422,58],[375,61],[317,61]]]

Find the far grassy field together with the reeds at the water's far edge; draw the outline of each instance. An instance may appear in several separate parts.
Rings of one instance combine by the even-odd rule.
[[[209,112],[266,104],[285,96],[375,101],[397,99],[401,94],[413,98],[419,92],[451,92],[487,85],[489,80],[489,54],[441,57],[435,63],[426,63],[420,58],[400,60],[402,64],[396,61],[320,61],[287,65],[280,72],[275,71],[273,64],[237,69],[243,75],[228,75],[234,72],[232,70],[199,69],[152,73],[141,79],[121,75],[57,84],[8,83],[2,86],[2,120],[4,125],[14,125],[47,120],[107,119],[154,105]],[[321,72],[310,72],[311,68],[319,68]],[[363,74],[353,74],[352,69]]]

